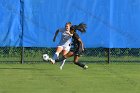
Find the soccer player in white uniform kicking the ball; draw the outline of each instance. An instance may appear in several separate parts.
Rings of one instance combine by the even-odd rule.
[[[73,34],[70,33],[70,27],[71,27],[71,22],[68,22],[65,24],[65,28],[60,28],[55,32],[55,36],[53,38],[53,41],[55,42],[56,40],[56,36],[58,35],[58,33],[61,33],[61,39],[60,42],[56,48],[56,52],[53,56],[53,60],[58,59],[59,54],[62,52],[62,56],[66,55],[69,50],[70,50],[70,43],[71,43],[71,37]],[[63,63],[66,60],[63,60]]]

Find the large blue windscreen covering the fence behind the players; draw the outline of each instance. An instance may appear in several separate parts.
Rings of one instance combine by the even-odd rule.
[[[1,0],[0,20],[1,47],[56,47],[69,21],[87,24],[87,48],[140,47],[140,0]]]

